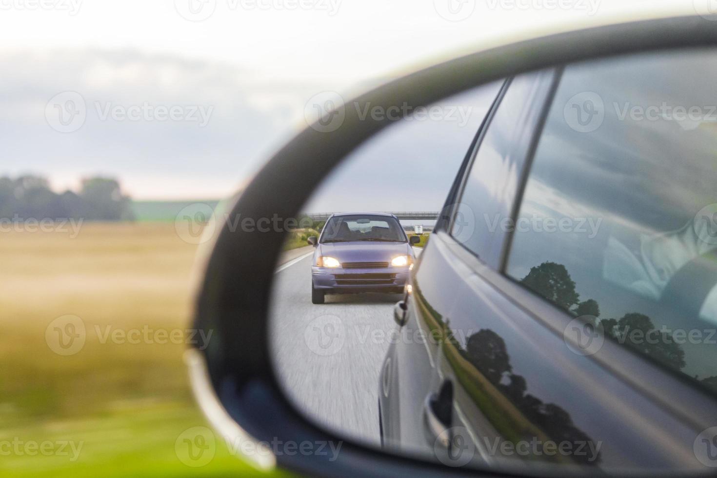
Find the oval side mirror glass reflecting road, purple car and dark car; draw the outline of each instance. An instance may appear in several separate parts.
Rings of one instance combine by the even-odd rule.
[[[717,419],[716,72],[702,49],[528,72],[366,141],[277,267],[290,400],[452,467],[717,466],[717,421],[677,405]]]

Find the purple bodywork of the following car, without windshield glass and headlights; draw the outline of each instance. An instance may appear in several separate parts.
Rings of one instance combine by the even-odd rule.
[[[342,240],[330,242],[331,224],[342,218],[374,218],[395,224],[394,240]],[[404,266],[391,265],[391,260],[399,256],[410,259]],[[338,259],[339,267],[323,267],[320,257]],[[324,294],[349,294],[359,292],[404,292],[410,265],[414,262],[414,252],[408,237],[400,226],[399,220],[392,214],[382,213],[346,213],[333,214],[326,221],[313,254],[311,265],[311,287],[315,296]],[[323,297],[319,298],[319,303]],[[316,301],[315,301],[316,302]]]

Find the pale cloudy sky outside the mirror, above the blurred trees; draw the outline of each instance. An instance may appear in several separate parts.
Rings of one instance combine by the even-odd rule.
[[[75,188],[101,173],[135,199],[227,196],[305,126],[320,92],[350,97],[450,52],[556,29],[694,13],[675,3],[0,0],[0,175]]]

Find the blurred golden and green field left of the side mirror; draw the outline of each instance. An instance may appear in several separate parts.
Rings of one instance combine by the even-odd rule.
[[[74,239],[63,231],[0,234],[1,476],[250,472],[219,436],[203,467],[184,464],[175,448],[184,430],[207,426],[189,390],[186,345],[158,333],[189,325],[195,248],[172,223],[83,224]],[[46,338],[65,315],[86,330],[84,346],[67,356]],[[117,330],[126,340],[108,339]],[[153,332],[130,343],[133,330]],[[81,444],[79,454],[61,452],[66,441]],[[39,453],[33,446],[43,442],[50,445]]]

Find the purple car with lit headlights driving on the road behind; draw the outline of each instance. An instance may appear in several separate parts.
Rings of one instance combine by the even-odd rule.
[[[415,256],[393,214],[332,214],[318,240],[311,264],[311,302],[323,304],[326,294],[403,292]]]

